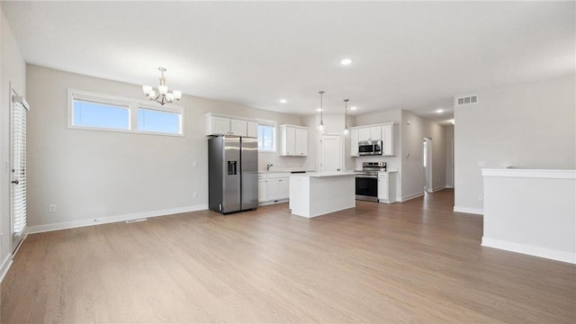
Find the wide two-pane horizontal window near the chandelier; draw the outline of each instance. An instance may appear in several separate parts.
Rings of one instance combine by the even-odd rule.
[[[68,127],[184,135],[184,108],[68,89]]]

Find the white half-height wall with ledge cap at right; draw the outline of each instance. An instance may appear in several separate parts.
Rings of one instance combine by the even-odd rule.
[[[576,172],[483,169],[482,245],[576,263]]]

